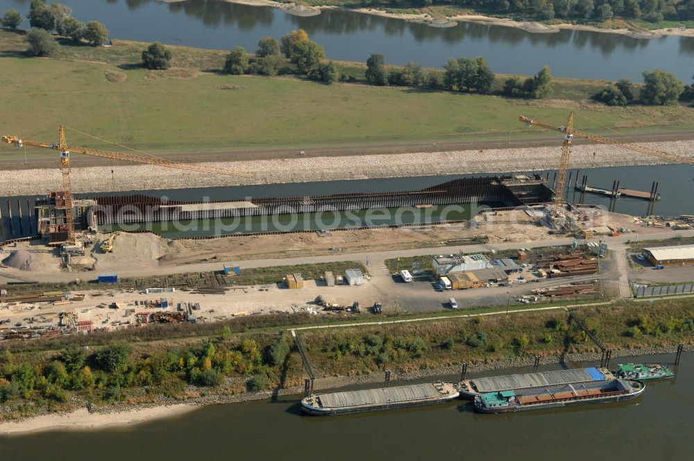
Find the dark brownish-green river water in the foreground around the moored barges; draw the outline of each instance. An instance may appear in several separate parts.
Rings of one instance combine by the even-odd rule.
[[[612,365],[673,359],[621,358]],[[581,366],[595,363],[568,364]],[[648,382],[635,401],[507,415],[476,414],[462,400],[339,417],[304,416],[301,396],[216,405],[114,430],[0,437],[0,459],[684,460],[694,449],[692,353],[676,371],[670,380]]]

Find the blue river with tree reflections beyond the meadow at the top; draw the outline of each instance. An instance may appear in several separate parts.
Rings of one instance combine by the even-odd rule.
[[[26,15],[31,0],[0,0],[0,11]],[[60,0],[82,21],[97,19],[114,38],[160,41],[210,49],[242,45],[254,51],[261,37],[279,38],[304,28],[325,47],[328,58],[366,61],[371,53],[386,62],[441,67],[449,58],[484,56],[493,72],[534,74],[549,65],[562,77],[642,81],[647,69],[666,69],[689,83],[694,74],[694,37],[639,39],[611,33],[529,33],[520,29],[462,23],[434,28],[349,10],[324,10],[298,17],[270,7],[223,0]],[[28,24],[24,24],[28,26]]]

